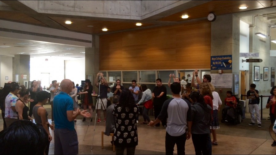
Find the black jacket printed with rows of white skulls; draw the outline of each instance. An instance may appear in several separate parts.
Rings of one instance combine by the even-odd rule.
[[[137,105],[123,107],[115,105],[112,114],[116,116],[114,145],[117,147],[133,147],[138,145],[136,116],[139,114]]]

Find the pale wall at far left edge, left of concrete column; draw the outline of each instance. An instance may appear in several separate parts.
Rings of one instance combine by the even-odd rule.
[[[13,58],[12,57],[0,57],[0,87],[4,87],[4,84],[13,81]],[[5,77],[8,76],[8,80]]]

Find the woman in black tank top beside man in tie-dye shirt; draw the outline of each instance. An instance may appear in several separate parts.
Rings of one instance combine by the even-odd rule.
[[[26,104],[24,102],[26,102],[28,100],[29,97],[29,90],[26,89],[25,87],[23,87],[20,91],[19,91],[19,98],[15,104],[15,110],[17,113],[17,118],[18,120],[31,120],[33,121],[33,118],[31,118],[30,116],[28,116],[28,110],[29,108],[26,106]]]

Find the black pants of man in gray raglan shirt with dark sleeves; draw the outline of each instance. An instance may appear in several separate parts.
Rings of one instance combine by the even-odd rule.
[[[166,132],[166,154],[174,154],[175,143],[177,147],[177,154],[185,154],[186,132],[180,136],[171,136]]]

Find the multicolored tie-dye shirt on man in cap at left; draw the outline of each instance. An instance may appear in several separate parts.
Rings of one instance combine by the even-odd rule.
[[[5,118],[15,118],[17,119],[16,112],[11,109],[12,106],[15,107],[16,101],[18,100],[18,97],[12,93],[9,93],[5,100]]]

